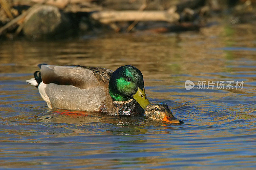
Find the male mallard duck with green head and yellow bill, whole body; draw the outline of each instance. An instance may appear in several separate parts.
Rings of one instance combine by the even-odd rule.
[[[139,69],[125,65],[116,71],[80,65],[39,64],[26,82],[38,87],[49,108],[141,115],[148,101]]]

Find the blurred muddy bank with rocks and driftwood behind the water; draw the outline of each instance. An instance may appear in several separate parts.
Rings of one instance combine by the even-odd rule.
[[[0,0],[0,36],[64,38],[104,31],[180,32],[256,21],[255,0]]]

